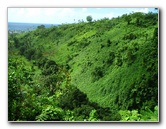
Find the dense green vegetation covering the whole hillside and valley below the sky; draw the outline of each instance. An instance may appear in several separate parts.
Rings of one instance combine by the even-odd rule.
[[[158,14],[8,33],[9,121],[158,121]]]

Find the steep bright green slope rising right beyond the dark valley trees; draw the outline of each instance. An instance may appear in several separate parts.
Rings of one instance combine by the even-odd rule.
[[[153,110],[158,105],[157,14],[42,26],[17,35],[15,45],[34,64],[45,57],[65,66],[71,85],[103,107]]]

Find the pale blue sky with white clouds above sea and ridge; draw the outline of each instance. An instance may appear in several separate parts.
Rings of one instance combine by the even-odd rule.
[[[8,8],[8,22],[62,24],[86,21],[88,15],[98,20],[132,12],[154,11],[154,8]]]

